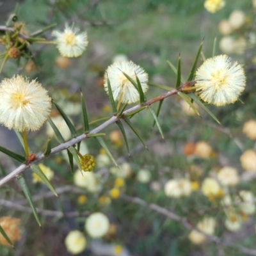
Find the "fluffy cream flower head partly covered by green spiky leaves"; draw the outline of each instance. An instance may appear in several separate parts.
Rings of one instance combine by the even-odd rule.
[[[140,80],[143,93],[148,90],[148,74],[145,73],[143,68],[135,65],[132,61],[115,62],[110,65],[106,70],[104,79],[104,88],[108,93],[108,79],[111,85],[113,98],[115,101],[119,100],[122,103],[134,103],[140,100],[140,94],[135,86],[124,76],[124,72],[133,81],[136,82],[136,76]]]

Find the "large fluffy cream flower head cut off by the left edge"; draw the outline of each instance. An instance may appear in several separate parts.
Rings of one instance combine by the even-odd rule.
[[[0,123],[8,129],[36,131],[51,111],[51,98],[37,81],[22,76],[0,84]]]

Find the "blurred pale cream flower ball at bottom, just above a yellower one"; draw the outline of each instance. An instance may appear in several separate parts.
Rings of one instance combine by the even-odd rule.
[[[108,217],[101,212],[92,213],[86,220],[85,229],[93,238],[106,235],[109,230]]]

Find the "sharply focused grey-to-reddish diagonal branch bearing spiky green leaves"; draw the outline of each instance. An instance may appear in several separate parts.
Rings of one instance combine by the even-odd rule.
[[[88,132],[88,134],[81,134],[80,136],[77,136],[76,138],[73,138],[70,141],[67,141],[65,143],[62,143],[60,145],[58,145],[57,147],[52,148],[51,153],[49,154],[49,156],[56,154],[58,152],[61,152],[63,150],[66,150],[69,147],[73,147],[74,145],[76,145],[77,143],[79,143],[82,140],[85,140],[86,138],[88,138],[88,135],[90,134],[97,134],[98,132],[102,131],[103,129],[105,129],[106,127],[108,127],[111,124],[114,124],[116,121],[124,119],[124,117],[126,115],[129,115],[131,113],[133,113],[134,111],[137,111],[138,109],[141,109],[143,107],[147,107],[152,105],[153,103],[159,101],[159,100],[163,100],[166,99],[172,95],[177,94],[178,92],[180,92],[182,90],[182,86],[180,86],[179,89],[173,89],[170,92],[166,92],[163,93],[162,95],[159,95],[153,99],[150,99],[146,102],[144,102],[143,104],[138,104],[130,109],[127,109],[126,111],[124,111],[124,113],[122,114],[122,116],[111,116],[111,118],[109,118],[109,120],[107,120],[106,122],[104,122],[103,124],[99,125],[98,127],[96,127],[95,129],[93,129],[92,131]],[[3,179],[0,180],[0,188],[6,184],[7,182],[9,182],[12,179],[17,178],[20,173],[24,172],[25,170],[27,170],[28,168],[30,168],[30,166],[32,164],[36,164],[39,163],[40,161],[44,160],[46,157],[49,156],[44,156],[44,154],[40,153],[40,154],[36,154],[35,160],[31,161],[28,164],[21,164],[18,168],[16,168],[15,170],[13,170],[11,173],[9,173],[8,175],[6,175],[6,177],[4,177]]]

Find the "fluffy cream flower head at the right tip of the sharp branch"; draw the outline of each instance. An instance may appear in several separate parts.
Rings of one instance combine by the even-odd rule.
[[[206,60],[196,71],[196,90],[209,104],[223,106],[237,100],[244,90],[246,77],[241,65],[227,55]]]

